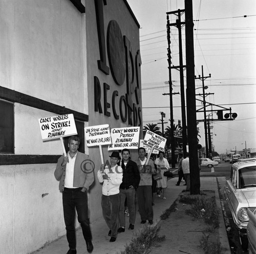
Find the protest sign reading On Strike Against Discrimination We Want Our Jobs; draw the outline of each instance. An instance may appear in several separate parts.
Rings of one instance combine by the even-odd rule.
[[[111,144],[109,124],[101,124],[84,128],[87,146]]]

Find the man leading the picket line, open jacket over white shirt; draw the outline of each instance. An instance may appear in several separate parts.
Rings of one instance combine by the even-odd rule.
[[[67,254],[76,254],[75,209],[86,240],[87,251],[93,252],[87,203],[87,192],[94,182],[93,167],[89,156],[78,151],[79,144],[79,137],[69,138],[67,156],[62,155],[58,159],[54,172],[56,180],[59,181],[59,190],[62,192],[63,213],[70,248]]]

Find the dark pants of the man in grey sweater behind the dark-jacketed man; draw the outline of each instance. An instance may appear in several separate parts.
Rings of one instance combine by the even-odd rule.
[[[151,185],[139,186],[137,189],[137,199],[141,220],[153,220]]]

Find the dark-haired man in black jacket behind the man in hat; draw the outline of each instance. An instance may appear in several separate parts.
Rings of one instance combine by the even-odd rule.
[[[123,170],[123,180],[120,185],[120,208],[119,208],[119,224],[118,233],[125,231],[125,199],[127,199],[127,207],[130,214],[129,230],[134,229],[134,223],[136,218],[135,211],[135,192],[139,186],[140,173],[137,164],[130,159],[130,150],[127,148],[122,149],[122,162],[121,167]]]

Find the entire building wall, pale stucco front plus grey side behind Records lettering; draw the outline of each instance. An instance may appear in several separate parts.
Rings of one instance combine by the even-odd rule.
[[[86,13],[81,13],[69,0],[0,0],[0,87],[86,114],[89,121],[83,121],[85,126],[105,123],[111,128],[130,126],[133,123],[129,124],[128,120],[114,117],[111,105],[116,90],[115,108],[120,115],[118,102],[121,95],[125,96],[126,79],[117,85],[111,71],[106,75],[98,69],[95,4],[91,0],[81,3],[86,6]],[[126,1],[107,1],[103,10],[105,38],[110,20],[116,20],[122,35],[129,38],[137,52],[139,27]],[[106,62],[109,65],[108,57]],[[95,111],[94,77],[100,82],[102,106],[103,83],[110,86],[106,93],[110,116]],[[131,98],[135,102],[136,81],[131,86]],[[139,85],[138,88],[141,89]],[[59,139],[42,142],[38,125],[39,118],[56,115],[54,110],[15,101],[13,104],[14,154],[30,158],[60,156]],[[141,108],[141,98],[135,104],[136,110]],[[110,152],[107,146],[102,146],[102,150],[106,161]],[[86,147],[86,152],[95,162],[95,182],[89,193],[90,219],[94,221],[102,216],[102,187],[96,176],[101,164],[99,147]],[[137,156],[137,151],[133,154]],[[53,175],[55,167],[56,163],[0,164],[0,253],[29,253],[66,233],[61,193]]]

